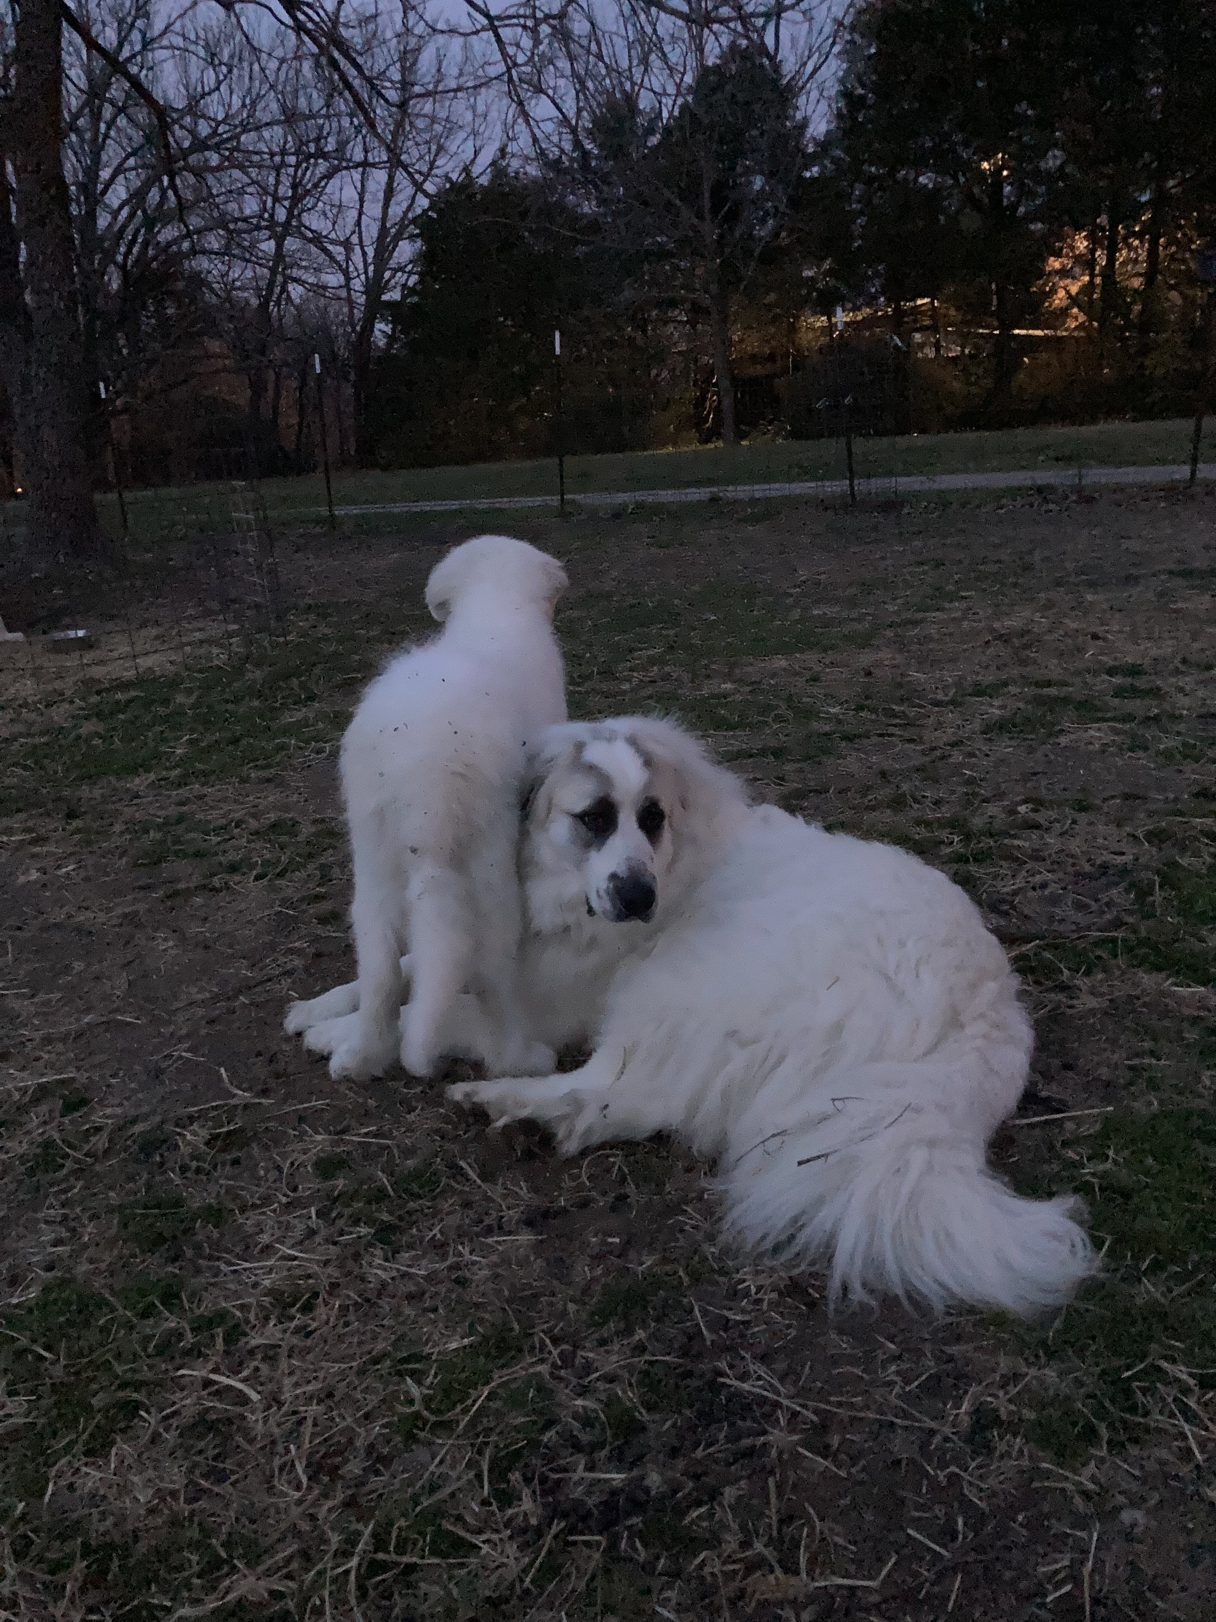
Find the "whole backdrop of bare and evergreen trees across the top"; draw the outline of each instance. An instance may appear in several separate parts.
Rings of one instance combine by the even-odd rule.
[[[814,435],[841,342],[876,430],[1195,409],[1216,0],[465,3],[0,0],[34,553],[321,409],[384,467]]]

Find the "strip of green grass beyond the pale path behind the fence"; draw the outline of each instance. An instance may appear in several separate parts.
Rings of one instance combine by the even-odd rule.
[[[861,478],[890,480],[913,474],[1020,472],[1043,469],[1182,466],[1190,459],[1190,422],[1112,422],[1083,428],[1012,428],[994,433],[914,435],[900,440],[858,440]],[[1211,459],[1211,428],[1203,454]],[[738,449],[704,446],[691,451],[653,451],[629,456],[571,456],[566,488],[590,491],[696,490],[843,478],[845,453],[837,441],[765,441]],[[491,462],[478,467],[425,467],[404,472],[337,472],[334,501],[340,508],[397,501],[486,501],[516,496],[556,496],[556,462]],[[324,511],[324,480],[268,478],[261,493],[271,517],[292,522],[303,513]],[[128,495],[136,539],[159,537],[178,526],[211,527],[229,522],[230,498],[221,485],[136,490]],[[118,532],[113,498],[102,500],[109,529]],[[21,509],[8,503],[5,522],[18,530]]]

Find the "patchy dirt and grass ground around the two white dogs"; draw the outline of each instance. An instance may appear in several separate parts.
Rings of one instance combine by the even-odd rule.
[[[1039,1033],[994,1160],[1106,1277],[833,1319],[670,1144],[331,1082],[280,1022],[350,973],[336,741],[469,529],[280,537],[248,662],[0,668],[0,1616],[1216,1616],[1216,493],[514,530],[574,714],[976,897]]]

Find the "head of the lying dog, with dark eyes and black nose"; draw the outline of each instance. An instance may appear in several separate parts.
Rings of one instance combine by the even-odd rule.
[[[542,928],[650,923],[746,808],[743,785],[671,722],[550,727],[524,801],[524,881]]]

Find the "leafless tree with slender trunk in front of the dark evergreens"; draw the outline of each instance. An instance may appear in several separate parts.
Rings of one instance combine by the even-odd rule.
[[[723,438],[738,438],[731,300],[783,227],[838,13],[803,0],[465,0],[514,135],[580,178],[626,295],[662,279],[710,333]]]

